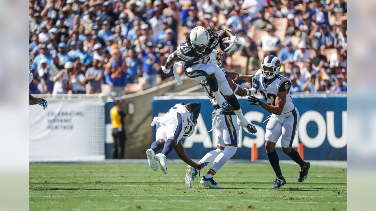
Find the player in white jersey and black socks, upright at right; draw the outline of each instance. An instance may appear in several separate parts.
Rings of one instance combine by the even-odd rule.
[[[283,152],[293,161],[299,164],[298,181],[303,182],[311,164],[305,162],[299,153],[293,149],[293,140],[299,123],[299,112],[293,104],[290,95],[291,82],[288,78],[279,74],[281,60],[276,56],[267,56],[261,63],[261,69],[254,72],[252,86],[264,97],[266,103],[255,96],[249,96],[250,105],[259,105],[267,112],[272,113],[268,117],[265,130],[265,148],[268,159],[276,173],[276,180],[272,188],[279,188],[286,184],[279,167],[279,158],[275,145],[282,134],[281,145]]]

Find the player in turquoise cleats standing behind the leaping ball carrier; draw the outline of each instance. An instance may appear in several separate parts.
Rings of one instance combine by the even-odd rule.
[[[221,65],[224,59],[222,53],[218,52],[216,49],[212,51],[210,58],[212,62],[214,62],[218,66]],[[233,82],[233,79],[235,78],[247,82],[252,82],[252,75],[239,75],[236,72],[226,71],[226,69],[224,68],[221,68],[221,71],[224,72],[227,82],[232,88],[233,93],[236,93],[239,96],[248,96],[249,94],[254,94],[256,92],[255,88],[244,89]],[[213,178],[218,170],[237,151],[240,130],[240,127],[238,126],[238,124],[236,124],[238,117],[233,111],[225,112],[221,109],[221,107],[219,107],[217,101],[215,100],[215,96],[213,95],[206,80],[201,80],[199,81],[199,83],[203,87],[205,93],[209,96],[210,102],[212,103],[214,108],[212,130],[215,130],[217,139],[217,149],[208,152],[198,163],[213,163],[208,173],[206,173],[206,175],[204,175],[201,179],[200,184],[209,188],[223,188],[219,186]],[[256,128],[254,131],[256,132]],[[193,181],[197,178],[197,173],[198,171],[195,168],[191,166],[187,167],[185,177],[185,184],[187,187],[192,187]]]

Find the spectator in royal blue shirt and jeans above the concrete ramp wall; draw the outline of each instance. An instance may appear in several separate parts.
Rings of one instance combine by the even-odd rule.
[[[160,57],[155,52],[154,46],[148,42],[146,49],[141,49],[138,59],[142,62],[143,78],[145,80],[145,88],[156,86],[156,75],[159,70]]]

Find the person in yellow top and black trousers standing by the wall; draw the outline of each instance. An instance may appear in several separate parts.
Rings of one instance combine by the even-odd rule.
[[[124,158],[125,149],[125,130],[124,120],[128,118],[125,112],[121,110],[123,101],[120,97],[115,97],[114,107],[110,110],[111,124],[112,124],[112,137],[114,137],[114,146],[112,147],[112,158]]]

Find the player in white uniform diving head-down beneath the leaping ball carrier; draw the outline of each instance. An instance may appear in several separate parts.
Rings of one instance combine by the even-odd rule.
[[[194,132],[194,127],[197,124],[201,109],[200,102],[190,102],[184,105],[182,102],[175,104],[162,117],[155,117],[151,126],[156,125],[156,141],[152,143],[150,149],[146,151],[147,160],[150,168],[154,171],[158,170],[158,163],[161,164],[163,173],[168,173],[166,167],[166,156],[175,149],[176,154],[186,164],[194,166],[196,169],[202,169],[207,163],[197,164],[185,154],[182,138],[190,137]],[[193,118],[191,120],[191,113]],[[162,149],[163,148],[163,149]],[[162,153],[155,155],[159,149]]]

